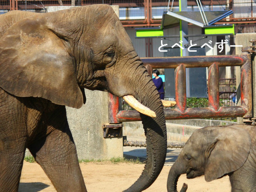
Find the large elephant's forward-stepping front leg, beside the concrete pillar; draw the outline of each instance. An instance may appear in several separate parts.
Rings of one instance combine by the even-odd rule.
[[[54,128],[29,149],[57,192],[87,192],[67,122],[64,129]]]

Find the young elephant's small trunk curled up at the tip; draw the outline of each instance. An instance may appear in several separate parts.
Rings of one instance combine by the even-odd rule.
[[[178,160],[171,166],[167,179],[167,191],[177,192],[177,182],[181,174],[186,173],[185,167],[182,166]],[[183,184],[181,192],[186,192],[188,189],[187,184]]]

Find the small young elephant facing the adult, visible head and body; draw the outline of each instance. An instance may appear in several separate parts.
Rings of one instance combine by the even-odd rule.
[[[171,167],[168,192],[177,192],[181,174],[207,182],[229,175],[232,192],[256,192],[256,127],[232,125],[194,131]]]

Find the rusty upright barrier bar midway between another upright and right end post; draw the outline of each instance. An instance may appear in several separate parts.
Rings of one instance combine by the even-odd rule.
[[[220,108],[219,66],[214,63],[208,69],[208,104],[217,111]]]

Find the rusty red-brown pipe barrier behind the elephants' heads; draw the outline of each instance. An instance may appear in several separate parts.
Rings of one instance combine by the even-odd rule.
[[[175,69],[175,109],[164,109],[166,120],[192,118],[220,118],[252,116],[252,62],[251,55],[184,56],[141,58],[149,73],[154,68]],[[220,107],[219,67],[240,66],[241,68],[241,105]],[[187,108],[186,68],[208,67],[207,108]],[[239,91],[239,90],[238,90]],[[238,98],[239,99],[239,98]],[[136,110],[120,110],[119,98],[109,94],[109,123],[140,121]]]

